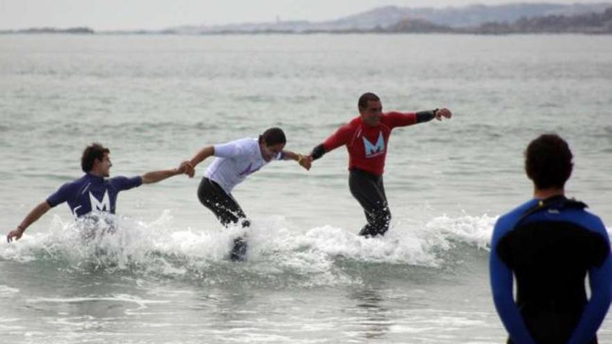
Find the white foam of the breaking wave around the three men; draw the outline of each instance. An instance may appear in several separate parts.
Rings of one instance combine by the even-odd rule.
[[[115,234],[84,238],[83,224],[56,217],[47,232],[25,234],[21,240],[0,245],[0,257],[12,261],[54,261],[73,270],[102,269],[145,275],[184,277],[207,284],[232,279],[261,280],[301,286],[360,283],[337,259],[352,264],[389,263],[437,268],[444,263],[439,252],[465,243],[485,249],[495,218],[488,215],[437,216],[424,223],[401,221],[383,238],[363,238],[354,231],[330,225],[290,229],[282,216],[258,219],[248,232],[248,261],[234,264],[227,254],[237,227],[222,229],[177,228],[170,211],[152,222],[112,218]],[[99,223],[106,223],[105,221]],[[92,229],[89,224],[87,230]],[[95,224],[98,233],[109,230]]]

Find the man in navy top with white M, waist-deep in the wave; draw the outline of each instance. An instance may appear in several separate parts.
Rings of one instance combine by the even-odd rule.
[[[63,202],[67,202],[75,218],[82,218],[96,211],[114,214],[117,195],[120,191],[136,188],[143,183],[156,183],[186,171],[186,163],[182,163],[178,168],[147,172],[142,177],[106,179],[113,165],[110,153],[108,148],[97,143],[86,147],[81,158],[81,168],[86,174],[75,181],[65,183],[45,202],[33,208],[22,223],[6,236],[8,242],[21,238],[26,228],[33,222],[47,213],[49,209]]]

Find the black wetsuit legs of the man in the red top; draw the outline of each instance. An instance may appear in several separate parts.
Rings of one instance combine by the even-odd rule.
[[[348,187],[357,202],[364,208],[368,223],[360,236],[383,236],[389,229],[391,211],[387,204],[383,177],[353,168],[348,175]]]

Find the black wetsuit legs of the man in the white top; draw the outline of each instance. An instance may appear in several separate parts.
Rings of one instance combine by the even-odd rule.
[[[243,228],[250,226],[244,211],[239,206],[236,199],[225,193],[225,190],[218,183],[204,177],[198,187],[198,199],[205,207],[209,208],[223,226],[240,223]],[[234,239],[234,247],[230,253],[230,258],[234,261],[244,260],[246,254],[246,241],[242,237]]]

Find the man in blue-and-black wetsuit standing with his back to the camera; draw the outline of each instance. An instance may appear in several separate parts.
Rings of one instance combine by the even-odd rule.
[[[525,151],[533,199],[495,224],[490,281],[508,343],[597,343],[612,297],[610,240],[602,220],[584,210],[586,204],[565,198],[572,167],[562,138],[547,134],[533,140]]]

